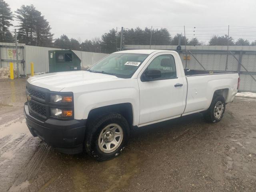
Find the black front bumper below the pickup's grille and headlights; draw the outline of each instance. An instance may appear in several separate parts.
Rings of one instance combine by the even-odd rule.
[[[48,118],[44,122],[29,114],[24,104],[26,124],[31,134],[40,137],[50,146],[66,154],[82,152],[86,120],[56,120]]]

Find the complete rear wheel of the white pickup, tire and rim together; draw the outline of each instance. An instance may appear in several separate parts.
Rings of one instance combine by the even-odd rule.
[[[225,109],[226,103],[224,97],[221,95],[214,95],[210,107],[203,113],[204,118],[210,123],[220,122],[224,116]]]

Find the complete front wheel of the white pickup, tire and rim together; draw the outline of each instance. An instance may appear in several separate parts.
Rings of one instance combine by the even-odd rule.
[[[129,137],[129,124],[117,113],[89,120],[86,129],[86,152],[99,161],[118,156]]]

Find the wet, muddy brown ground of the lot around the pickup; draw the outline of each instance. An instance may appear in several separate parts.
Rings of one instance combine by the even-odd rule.
[[[25,80],[0,79],[0,191],[255,191],[256,101],[235,99],[221,122],[200,114],[133,130],[117,158],[65,155],[33,137]]]

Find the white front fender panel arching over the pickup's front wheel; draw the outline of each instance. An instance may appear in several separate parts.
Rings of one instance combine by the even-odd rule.
[[[65,91],[62,90],[62,91]],[[74,93],[74,118],[87,119],[91,110],[114,104],[130,103],[133,110],[133,125],[139,123],[140,99],[136,79],[119,79],[86,86],[72,87]]]

